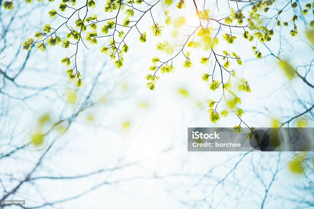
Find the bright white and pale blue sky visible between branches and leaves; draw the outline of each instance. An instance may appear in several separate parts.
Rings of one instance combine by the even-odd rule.
[[[285,1],[279,1],[278,5],[281,5],[281,2],[284,3]],[[17,1],[14,3],[19,5]],[[78,1],[77,4],[80,3],[83,2]],[[40,6],[46,4],[49,6]],[[20,13],[24,13],[24,10],[28,13],[32,8],[36,9],[23,18],[24,22],[14,23],[16,28],[19,28],[20,24],[25,24],[29,29],[25,31],[17,29],[15,31],[14,40],[10,40],[12,46],[3,52],[5,58],[0,61],[1,66],[10,61],[22,41],[27,37],[31,37],[36,30],[40,30],[43,24],[50,23],[54,28],[54,25],[62,20],[59,17],[52,20],[48,16],[48,11],[52,8],[57,10],[58,1],[46,4],[36,1],[31,5],[21,3],[24,8],[19,10]],[[100,3],[99,1],[97,4],[104,4],[104,2]],[[203,5],[203,1],[200,1],[199,4]],[[217,17],[215,16],[218,13],[216,4],[211,4],[208,1],[206,5],[206,8],[211,9],[211,14]],[[236,6],[231,5],[231,7]],[[168,9],[171,11],[172,20],[184,14],[189,24],[198,24],[198,19],[194,17],[195,8],[192,2],[187,2],[186,9],[177,10],[175,4]],[[230,13],[227,8],[227,1],[219,1],[219,9],[221,17],[225,17],[225,14]],[[14,10],[11,13],[1,11],[8,14],[8,18],[14,12]],[[160,11],[162,9],[158,7],[153,9],[153,16],[155,21],[165,25],[163,14]],[[95,10],[94,13],[100,17],[100,14],[103,13],[103,6],[100,7],[99,11]],[[159,16],[158,13],[160,13]],[[64,15],[67,16],[66,13]],[[288,20],[290,18],[290,16],[287,16]],[[6,21],[8,20],[6,19]],[[299,22],[300,36],[305,39],[304,26],[301,20]],[[155,85],[155,90],[150,91],[146,88],[145,84],[147,82],[143,77],[150,73],[148,66],[151,65],[151,58],[153,56],[168,57],[165,53],[161,54],[157,51],[155,44],[169,39],[169,34],[173,29],[172,26],[168,26],[162,29],[163,35],[160,38],[155,38],[149,29],[151,24],[152,20],[149,14],[146,14],[145,18],[141,20],[141,24],[139,24],[140,31],[147,32],[148,41],[144,44],[138,41],[138,32],[136,30],[130,32],[129,37],[125,40],[130,49],[124,56],[125,61],[121,69],[114,68],[113,62],[105,54],[100,53],[100,46],[106,45],[106,39],[99,39],[96,46],[88,45],[89,50],[80,45],[78,59],[83,60],[79,66],[82,69],[81,73],[85,86],[83,89],[78,90],[78,95],[88,91],[87,89],[90,88],[95,75],[100,70],[104,72],[102,77],[99,78],[100,81],[103,81],[103,84],[96,89],[95,99],[97,99],[97,96],[106,95],[114,85],[115,90],[107,95],[108,104],[89,109],[78,117],[71,129],[58,139],[53,151],[46,156],[44,165],[40,169],[41,172],[37,174],[39,176],[41,174],[69,176],[85,174],[101,168],[106,169],[128,163],[139,163],[83,180],[40,180],[36,182],[39,191],[33,190],[32,185],[25,184],[21,188],[19,196],[11,199],[24,198],[28,202],[36,199],[37,195],[41,194],[47,201],[54,201],[75,196],[104,180],[111,182],[122,180],[117,184],[103,185],[79,199],[57,205],[57,208],[103,208],[104,206],[105,208],[190,208],[193,206],[191,200],[202,199],[207,196],[214,188],[213,184],[222,179],[234,167],[234,164],[240,159],[237,156],[240,153],[187,152],[187,127],[233,127],[239,123],[239,119],[234,115],[222,118],[217,124],[212,124],[209,121],[205,100],[219,98],[222,89],[219,88],[219,92],[212,92],[207,87],[208,83],[201,81],[200,75],[203,72],[212,71],[212,65],[214,64],[210,63],[206,67],[199,64],[200,57],[207,55],[208,52],[190,50],[194,66],[189,69],[182,66],[183,55],[178,56],[174,61],[176,72],[173,74],[158,74],[160,79]],[[98,30],[100,30],[100,26],[98,26]],[[214,24],[213,27],[215,30]],[[294,66],[304,65],[313,57],[313,51],[299,38],[292,38],[289,35],[289,30],[290,28],[283,29],[283,34],[292,46],[286,40],[282,40],[282,55],[290,60]],[[186,34],[189,34],[190,31],[190,28],[184,28],[184,26],[180,30],[182,33],[186,32]],[[242,33],[241,30],[239,31]],[[61,33],[58,35],[64,36]],[[220,35],[219,46],[215,51],[219,53],[225,49],[235,51],[240,54],[243,61],[250,60],[243,62],[242,66],[236,64],[231,66],[239,77],[248,80],[252,89],[251,94],[236,93],[241,97],[241,108],[247,110],[242,118],[246,124],[254,127],[269,126],[270,119],[257,111],[282,121],[296,115],[295,113],[298,114],[304,111],[304,107],[295,105],[292,101],[298,97],[312,101],[313,91],[308,90],[298,78],[281,88],[287,82],[287,78],[277,67],[276,60],[272,57],[255,60],[251,50],[255,42],[244,40],[241,34],[237,36],[235,44],[228,45],[224,43]],[[273,36],[275,40],[268,44],[271,49],[278,49],[278,38],[279,36]],[[182,41],[180,35],[176,40],[169,39],[171,45],[182,43]],[[265,47],[261,44],[259,46],[263,55],[268,54]],[[174,49],[176,53],[176,48]],[[0,126],[4,127],[5,134],[3,136],[10,135],[10,130],[18,122],[17,129],[14,132],[14,143],[18,145],[29,140],[28,134],[35,128],[37,118],[43,113],[51,112],[51,117],[57,120],[61,109],[65,105],[65,102],[62,101],[65,89],[75,88],[74,84],[67,83],[66,67],[60,63],[60,60],[64,56],[72,55],[73,50],[74,48],[71,47],[63,49],[61,46],[52,48],[47,46],[44,53],[40,51],[33,52],[35,56],[31,57],[31,62],[26,67],[27,70],[21,74],[16,82],[21,85],[31,86],[46,86],[58,82],[53,87],[56,91],[46,91],[41,96],[28,99],[26,103],[2,95],[0,103],[10,104],[9,115],[11,115],[9,121],[0,121]],[[3,55],[0,56],[3,57]],[[26,51],[21,56],[26,56]],[[309,82],[314,83],[314,77],[311,73],[308,74],[307,78]],[[125,89],[126,84],[127,88]],[[292,91],[295,87],[300,89],[300,91],[296,89],[299,93]],[[177,92],[178,88],[187,89],[189,96],[182,97]],[[233,83],[233,88],[237,88],[236,83]],[[16,97],[30,94],[30,91],[23,92],[12,86],[7,89],[9,89],[7,92],[10,95]],[[43,95],[50,99],[44,98]],[[143,102],[149,105],[147,109],[138,107],[138,104]],[[202,103],[201,107],[197,105],[198,102]],[[70,112],[74,108],[74,105],[67,105],[67,110]],[[89,114],[94,116],[95,121],[89,122],[86,120]],[[283,116],[288,117],[284,118]],[[130,121],[131,124],[128,132],[123,131],[121,128],[122,123],[125,121]],[[8,138],[3,137],[3,140],[8,140]],[[37,159],[40,152],[35,151],[35,149],[28,149],[19,153],[17,158],[0,161],[0,173],[14,173],[16,178],[23,178],[23,174],[29,172],[32,167],[30,165],[32,163],[27,162]],[[202,176],[210,169],[232,156],[235,156],[235,158],[214,169],[210,178],[202,179],[199,183]],[[223,187],[219,186],[214,195],[209,198],[209,202],[213,201],[213,208],[232,208],[236,206],[237,201],[240,202],[239,208],[260,207],[265,189],[252,172],[251,156],[251,153],[248,154],[247,158],[239,164],[237,172],[226,180]],[[253,156],[253,159],[258,162],[262,153],[253,153]],[[260,164],[255,164],[255,166],[260,171],[260,175],[265,178],[265,181],[269,182],[272,174],[267,169],[274,169],[278,153],[263,153],[263,156],[263,161]],[[281,166],[288,163],[289,156],[291,156],[290,153],[282,154]],[[19,167],[13,167],[11,163],[16,163]],[[258,165],[260,166],[258,167]],[[176,175],[174,176],[174,174]],[[160,179],[156,179],[155,175],[160,176]],[[236,182],[236,180],[239,182]],[[278,198],[278,194],[283,196],[291,194],[283,185],[293,190],[293,187],[288,185],[301,184],[304,178],[295,176],[287,168],[284,168],[280,170],[276,180],[278,181],[273,184],[270,192],[273,195],[268,197],[266,201],[267,208],[280,208],[282,206],[292,208],[292,205],[285,205],[287,203],[284,203],[284,201],[274,203],[274,200]],[[15,185],[16,182],[16,180],[13,180],[4,183],[10,187]],[[193,187],[195,184],[198,185]],[[243,191],[239,190],[239,185],[244,189]],[[239,196],[242,199],[239,199]],[[100,206],[100,204],[104,204],[104,206]],[[202,203],[198,205],[198,208],[207,207],[208,205]],[[47,208],[49,207],[47,206]]]

